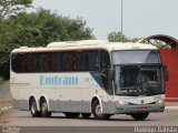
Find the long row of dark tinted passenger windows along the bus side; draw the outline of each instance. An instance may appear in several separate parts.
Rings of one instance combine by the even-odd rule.
[[[14,72],[99,71],[110,64],[106,51],[12,53]]]

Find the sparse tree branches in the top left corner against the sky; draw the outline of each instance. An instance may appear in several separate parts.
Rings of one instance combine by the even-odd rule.
[[[0,0],[0,21],[32,7],[31,3],[32,0]]]

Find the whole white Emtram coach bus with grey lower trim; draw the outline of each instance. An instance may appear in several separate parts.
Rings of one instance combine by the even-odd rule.
[[[145,120],[165,110],[168,73],[150,44],[83,40],[22,47],[11,52],[10,68],[13,108],[32,116]]]

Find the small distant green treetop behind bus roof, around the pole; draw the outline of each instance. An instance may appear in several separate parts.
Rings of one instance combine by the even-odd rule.
[[[135,39],[127,38],[125,34],[121,34],[121,32],[113,31],[108,34],[108,41],[121,42],[121,37],[122,37],[122,42],[136,42],[139,40],[138,38],[135,38]]]

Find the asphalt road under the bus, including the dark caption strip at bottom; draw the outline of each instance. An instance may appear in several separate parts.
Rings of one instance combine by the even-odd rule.
[[[11,109],[0,116],[0,131],[7,129],[20,130],[17,133],[142,133],[137,127],[144,127],[151,133],[178,133],[178,110],[166,110],[164,113],[151,113],[145,121],[135,121],[129,115],[118,114],[107,121],[98,121],[92,116],[85,119],[67,119],[62,113],[53,113],[51,117],[31,117],[28,111]],[[164,132],[159,127],[168,127]],[[171,127],[175,127],[172,131]],[[152,129],[152,131],[150,131]],[[170,131],[171,130],[171,131]],[[23,131],[23,132],[22,132]],[[155,131],[155,132],[154,132]],[[157,132],[156,132],[157,131]],[[14,132],[14,131],[13,131]]]

